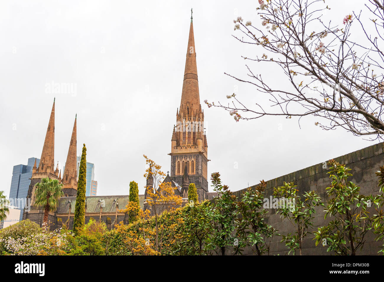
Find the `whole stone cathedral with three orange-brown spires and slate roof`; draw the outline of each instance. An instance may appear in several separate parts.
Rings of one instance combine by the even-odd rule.
[[[36,162],[33,167],[31,182],[28,189],[27,201],[30,199],[30,208],[25,208],[23,219],[30,219],[38,224],[43,223],[44,209],[34,205],[34,185],[42,178],[57,179],[63,184],[64,197],[59,200],[55,212],[50,212],[48,219],[51,228],[67,226],[73,227],[74,207],[77,195],[77,158],[76,158],[76,119],[74,120],[68,155],[63,175],[55,167],[55,99],[46,130],[43,151],[39,167]],[[170,175],[167,174],[163,182],[170,182],[175,188],[175,194],[182,197],[183,202],[188,200],[190,183],[195,183],[199,201],[212,199],[215,193],[208,192],[208,143],[204,131],[204,111],[201,109],[199,96],[199,81],[197,77],[197,63],[195,51],[195,38],[192,16],[190,21],[188,46],[185,58],[185,70],[181,92],[180,107],[176,110],[176,123],[171,138],[171,152],[169,153]],[[151,178],[147,179],[147,189],[152,188]],[[147,194],[147,193],[146,193]],[[151,209],[145,195],[139,195],[142,209]],[[92,218],[103,221],[109,228],[123,221],[128,223],[127,214],[119,211],[129,201],[129,195],[114,196],[87,196],[86,197],[86,223]],[[121,207],[119,208],[119,202]]]

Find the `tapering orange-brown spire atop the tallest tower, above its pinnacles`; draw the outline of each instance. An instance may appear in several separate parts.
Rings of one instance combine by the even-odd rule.
[[[187,105],[188,102],[190,105],[200,104],[199,83],[197,81],[195,38],[192,21],[189,27],[187,55],[185,58],[184,81],[180,101],[180,112],[182,110],[185,110],[183,109],[183,105]]]

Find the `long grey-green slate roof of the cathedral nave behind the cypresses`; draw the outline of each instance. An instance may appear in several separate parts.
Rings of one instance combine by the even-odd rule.
[[[101,200],[105,201],[103,212],[113,213],[116,211],[116,201],[119,203],[119,209],[125,208],[129,201],[129,195],[116,196],[88,196],[85,197],[87,203],[87,213],[99,213]],[[115,201],[116,200],[116,201]],[[57,213],[68,213],[69,203],[71,201],[71,213],[74,213],[76,197],[61,197],[57,207]],[[140,207],[144,207],[144,195],[139,195]]]

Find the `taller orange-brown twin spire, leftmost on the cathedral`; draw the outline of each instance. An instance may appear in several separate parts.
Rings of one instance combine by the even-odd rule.
[[[47,132],[41,152],[39,167],[36,172],[38,173],[54,173],[54,158],[55,158],[55,99],[53,99],[53,106],[51,116],[48,122]]]

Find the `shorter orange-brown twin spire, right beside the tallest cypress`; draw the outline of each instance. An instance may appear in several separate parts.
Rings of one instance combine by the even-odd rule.
[[[77,188],[76,120],[77,115],[74,119],[70,147],[68,149],[67,161],[65,163],[65,169],[63,173],[62,183],[65,185],[63,188]]]

